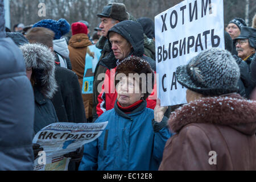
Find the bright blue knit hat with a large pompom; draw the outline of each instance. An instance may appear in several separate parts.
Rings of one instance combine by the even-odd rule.
[[[53,32],[55,32],[54,40],[60,39],[61,36],[67,34],[70,30],[70,24],[65,19],[59,19],[58,21],[52,19],[43,19],[40,20],[38,23],[35,23],[34,27],[44,27],[49,28]]]

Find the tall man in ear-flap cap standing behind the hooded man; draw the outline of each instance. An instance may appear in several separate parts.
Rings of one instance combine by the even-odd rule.
[[[129,19],[129,13],[126,11],[126,6],[123,3],[110,3],[109,5],[105,6],[102,10],[102,13],[97,14],[99,18],[101,18],[101,23],[99,28],[101,28],[101,38],[98,40],[96,47],[102,49],[101,57],[98,61],[94,72],[94,80],[93,80],[93,115],[96,114],[96,106],[98,104],[98,94],[100,94],[102,85],[99,85],[102,80],[98,80],[98,75],[104,73],[105,75],[106,68],[100,65],[101,59],[106,57],[112,49],[109,47],[107,35],[109,29],[112,28],[115,24],[122,22],[123,20]],[[103,82],[102,82],[103,83]]]

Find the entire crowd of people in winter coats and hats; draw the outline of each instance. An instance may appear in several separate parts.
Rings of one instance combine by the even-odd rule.
[[[86,20],[43,19],[11,32],[3,14],[0,0],[0,170],[32,170],[43,150],[32,138],[51,123],[105,121],[100,137],[64,155],[68,170],[256,170],[256,15],[252,27],[230,20],[225,50],[178,67],[188,104],[163,107],[152,19],[110,3],[90,36]]]

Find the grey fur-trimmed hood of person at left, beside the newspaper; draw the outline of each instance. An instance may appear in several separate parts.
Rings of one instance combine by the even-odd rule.
[[[55,56],[48,47],[41,44],[24,44],[19,48],[23,52],[26,68],[32,68],[35,74],[40,92],[51,99],[57,90]]]

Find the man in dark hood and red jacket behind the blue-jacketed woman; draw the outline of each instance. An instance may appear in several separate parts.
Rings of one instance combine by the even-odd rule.
[[[139,56],[147,61],[151,68],[155,71],[155,61],[150,57],[144,56],[143,47],[143,30],[141,24],[131,20],[125,20],[115,24],[108,32],[109,46],[112,52],[109,53],[101,61],[101,65],[107,68],[105,73],[105,80],[100,94],[98,95],[98,105],[96,107],[97,115],[94,119],[99,117],[106,110],[113,109],[117,93],[115,91],[115,68],[117,64],[129,56]],[[104,76],[104,75],[103,75]],[[102,76],[102,77],[103,77]],[[98,77],[100,79],[101,77]],[[95,78],[96,79],[96,78]],[[156,105],[156,84],[151,95],[147,98],[147,107],[154,109]]]

